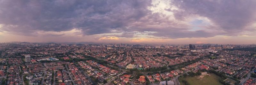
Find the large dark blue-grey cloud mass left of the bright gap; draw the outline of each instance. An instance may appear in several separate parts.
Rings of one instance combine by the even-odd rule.
[[[150,4],[150,0],[1,0],[0,24],[2,30],[20,35],[73,28],[85,35],[110,33],[147,15]]]

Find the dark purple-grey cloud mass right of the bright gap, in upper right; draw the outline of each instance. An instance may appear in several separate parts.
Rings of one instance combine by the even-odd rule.
[[[180,9],[174,11],[176,19],[182,20],[191,15],[203,16],[227,32],[227,35],[237,35],[248,30],[246,27],[256,20],[255,0],[174,0],[172,4]]]

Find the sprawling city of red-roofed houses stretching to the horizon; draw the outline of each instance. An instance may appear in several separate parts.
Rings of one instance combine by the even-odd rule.
[[[256,44],[0,44],[2,85],[252,85]],[[212,78],[211,78],[212,77]]]

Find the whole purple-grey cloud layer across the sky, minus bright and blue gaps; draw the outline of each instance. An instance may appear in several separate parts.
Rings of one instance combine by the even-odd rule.
[[[128,38],[140,36],[135,35],[138,32],[167,38],[237,35],[253,30],[245,27],[255,22],[255,2],[174,0],[172,5],[179,10],[164,9],[174,13],[175,19],[170,20],[171,16],[148,9],[156,7],[151,0],[0,0],[0,32],[36,36],[41,30],[60,32],[76,28],[84,35],[122,33],[116,36]],[[180,21],[191,15],[206,17],[216,26],[189,31],[190,25]]]

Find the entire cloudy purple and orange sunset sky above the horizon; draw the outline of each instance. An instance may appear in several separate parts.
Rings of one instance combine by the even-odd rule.
[[[256,0],[0,0],[0,42],[256,43]]]

